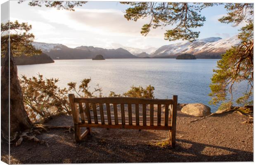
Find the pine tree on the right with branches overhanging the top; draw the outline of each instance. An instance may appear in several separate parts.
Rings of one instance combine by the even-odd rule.
[[[194,41],[200,32],[193,31],[196,27],[204,25],[206,20],[200,12],[206,7],[223,5],[223,3],[173,3],[173,2],[121,2],[131,5],[126,9],[125,18],[137,21],[140,18],[150,18],[150,22],[142,26],[141,34],[146,36],[151,28],[172,25],[172,29],[166,30],[164,39],[175,41],[178,39]],[[246,22],[242,27],[238,38],[242,40],[239,46],[233,46],[222,55],[218,61],[218,69],[213,70],[210,85],[212,97],[210,103],[220,101],[223,105],[232,105],[232,89],[234,83],[248,82],[248,89],[237,103],[248,105],[253,94],[253,48],[254,48],[254,4],[249,3],[225,3],[227,16],[219,19],[221,23],[232,23],[232,26]],[[227,94],[231,99],[227,101]],[[222,106],[223,107],[223,106]]]

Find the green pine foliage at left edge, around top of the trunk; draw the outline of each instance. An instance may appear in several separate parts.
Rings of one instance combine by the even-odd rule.
[[[5,55],[9,42],[14,56],[40,54],[41,51],[32,45],[35,36],[28,33],[31,28],[28,23],[18,21],[1,23],[1,57]]]

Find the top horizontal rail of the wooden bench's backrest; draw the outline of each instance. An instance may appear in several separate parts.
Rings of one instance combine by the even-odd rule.
[[[101,97],[101,98],[75,98],[76,103],[116,103],[116,104],[172,104],[172,99],[144,99],[133,97]]]

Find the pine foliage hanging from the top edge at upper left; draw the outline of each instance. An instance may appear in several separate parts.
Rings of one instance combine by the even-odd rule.
[[[19,0],[18,3],[22,3],[24,0]],[[64,10],[70,10],[74,11],[74,7],[76,6],[82,6],[87,1],[57,1],[57,0],[33,0],[31,2],[28,2],[29,6],[38,6],[42,7],[44,5],[45,7],[55,7],[58,10],[64,9]]]

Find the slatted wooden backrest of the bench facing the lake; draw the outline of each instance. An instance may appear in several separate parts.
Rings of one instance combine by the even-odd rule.
[[[154,117],[157,117],[157,126],[161,126],[163,122],[164,126],[170,126],[168,120],[171,119],[171,126],[173,127],[176,124],[177,99],[178,96],[173,96],[173,99],[142,99],[130,97],[76,98],[74,94],[69,94],[74,124],[91,124],[91,117],[93,117],[94,124],[105,124],[107,122],[107,124],[115,125],[133,125],[135,121],[135,125],[140,125],[141,123],[143,126],[147,126],[148,115],[146,111],[147,105],[149,105],[148,124],[150,126],[156,124],[154,123]],[[111,104],[113,108],[110,108]],[[118,104],[120,104],[121,116],[119,116],[117,112]],[[125,113],[125,105],[128,107],[128,117],[127,113]],[[157,115],[154,115],[154,105],[157,105]],[[162,105],[165,105],[164,112],[161,112]],[[97,114],[97,106],[99,107],[98,113],[100,112],[100,115]],[[104,113],[103,106],[106,106],[107,113]],[[132,115],[132,107],[134,106],[135,117]],[[140,106],[142,106],[142,117],[139,115]],[[91,108],[92,112],[90,112]],[[93,115],[91,113],[93,113]],[[111,120],[111,117],[113,117],[111,113],[114,114],[114,123]],[[86,114],[86,116],[84,114]],[[119,123],[120,118],[121,123]],[[100,120],[100,122],[98,122],[98,120]]]

